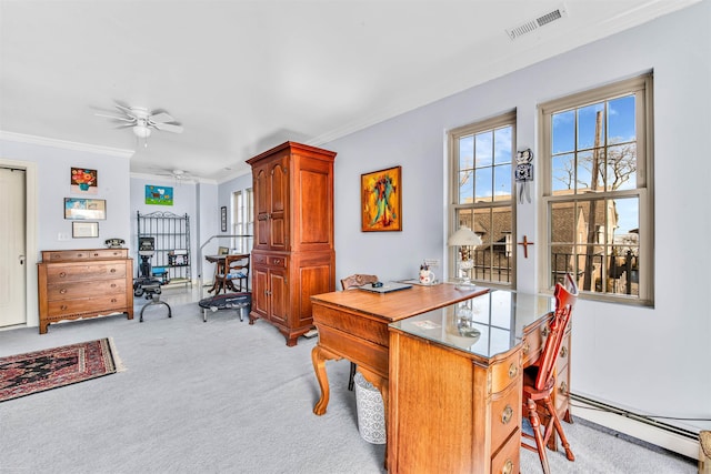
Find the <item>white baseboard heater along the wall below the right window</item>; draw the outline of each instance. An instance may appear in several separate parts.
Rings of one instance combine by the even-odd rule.
[[[634,415],[623,410],[608,411],[601,406],[608,405],[597,404],[584,397],[571,395],[571,402],[574,404],[572,411],[573,418],[581,417],[589,422],[602,425],[619,433],[627,434],[655,446],[679,453],[692,460],[699,458],[699,435],[685,430],[663,427],[664,424],[645,422],[639,415]],[[653,421],[652,421],[653,422]]]

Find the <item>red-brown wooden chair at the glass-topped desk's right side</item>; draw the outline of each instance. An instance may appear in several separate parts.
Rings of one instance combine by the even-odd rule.
[[[522,413],[528,413],[533,434],[531,435],[522,432],[521,446],[527,450],[538,452],[538,456],[541,460],[541,466],[545,474],[550,473],[545,445],[548,444],[548,440],[553,433],[553,430],[555,430],[560,436],[560,441],[565,450],[565,456],[568,460],[575,461],[575,456],[570,450],[570,443],[568,443],[565,433],[563,433],[563,427],[560,424],[558,411],[555,410],[551,399],[551,394],[555,390],[555,362],[558,361],[565,329],[570,323],[573,306],[578,300],[578,285],[570,274],[565,275],[565,286],[560,283],[555,283],[554,296],[555,311],[549,325],[550,332],[545,340],[543,351],[541,352],[538,361],[533,365],[525,367],[523,371]],[[550,415],[548,423],[543,426],[542,433],[537,403],[542,403]],[[535,445],[527,442],[525,440],[534,440]]]

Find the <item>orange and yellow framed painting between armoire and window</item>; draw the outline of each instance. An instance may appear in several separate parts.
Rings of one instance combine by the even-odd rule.
[[[402,230],[401,167],[360,175],[361,231]]]

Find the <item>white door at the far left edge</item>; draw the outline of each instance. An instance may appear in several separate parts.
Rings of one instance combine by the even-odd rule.
[[[0,327],[27,323],[26,172],[0,168]]]

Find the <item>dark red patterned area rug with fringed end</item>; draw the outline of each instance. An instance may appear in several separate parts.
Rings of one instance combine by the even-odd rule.
[[[109,339],[0,357],[0,402],[117,372]]]

